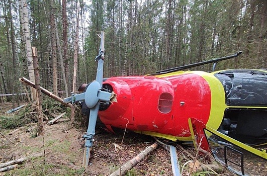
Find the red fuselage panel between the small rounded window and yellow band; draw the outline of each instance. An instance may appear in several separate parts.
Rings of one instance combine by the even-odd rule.
[[[188,119],[196,118],[207,123],[210,109],[211,91],[208,82],[197,74],[182,76],[175,90],[174,129],[176,136],[190,137]]]

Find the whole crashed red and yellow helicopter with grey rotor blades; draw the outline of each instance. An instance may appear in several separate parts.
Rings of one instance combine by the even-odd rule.
[[[254,151],[249,146],[267,144],[267,70],[215,71],[217,62],[235,58],[241,52],[150,75],[103,79],[104,32],[101,37],[96,80],[86,85],[84,93],[64,99],[83,101],[83,111],[90,110],[83,136],[83,166],[90,158],[97,122],[111,132],[126,128],[172,141],[193,140],[206,150],[210,150],[208,138],[214,136],[211,130],[204,132],[207,128],[230,141],[228,146],[244,145],[246,151]],[[182,71],[208,63],[214,63],[212,72]],[[264,151],[255,155],[266,162]]]

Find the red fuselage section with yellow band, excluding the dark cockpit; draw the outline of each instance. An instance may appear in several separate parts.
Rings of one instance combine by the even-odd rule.
[[[192,140],[188,119],[196,118],[218,129],[225,97],[223,85],[211,73],[179,71],[155,76],[111,77],[103,87],[112,87],[118,103],[99,117],[110,127],[170,140]]]

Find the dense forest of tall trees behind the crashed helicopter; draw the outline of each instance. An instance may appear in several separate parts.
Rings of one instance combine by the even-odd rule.
[[[243,51],[241,57],[220,62],[217,69],[267,67],[267,1],[0,3],[0,94],[25,93],[19,78],[31,79],[35,47],[41,86],[69,96],[96,77],[101,31],[105,31],[104,77],[151,74],[238,51]],[[193,69],[210,71],[211,65]]]

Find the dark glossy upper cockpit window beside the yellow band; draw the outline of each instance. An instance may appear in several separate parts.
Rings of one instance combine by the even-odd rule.
[[[223,84],[226,104],[265,106],[267,75],[258,70],[230,70],[215,74]]]

